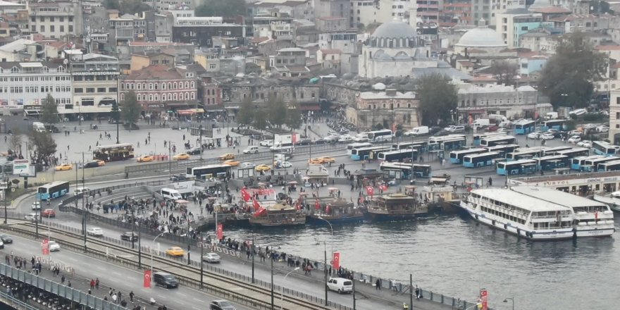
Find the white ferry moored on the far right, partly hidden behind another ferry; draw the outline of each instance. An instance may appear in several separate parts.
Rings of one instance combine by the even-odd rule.
[[[607,204],[548,187],[514,186],[511,189],[569,208],[573,216],[575,237],[605,237],[616,231],[614,212]]]

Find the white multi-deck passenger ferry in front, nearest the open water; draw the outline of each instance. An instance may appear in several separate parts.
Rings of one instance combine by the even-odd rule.
[[[476,221],[530,240],[573,237],[573,217],[566,206],[504,189],[472,190],[461,208]]]

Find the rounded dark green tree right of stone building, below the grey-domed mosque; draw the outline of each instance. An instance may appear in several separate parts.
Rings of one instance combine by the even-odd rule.
[[[451,110],[457,109],[457,87],[444,75],[433,73],[417,80],[422,123],[438,125],[450,120]]]

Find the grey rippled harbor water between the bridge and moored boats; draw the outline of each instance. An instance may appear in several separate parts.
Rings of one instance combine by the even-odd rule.
[[[616,222],[616,230],[620,228]],[[233,228],[230,228],[233,229]],[[226,228],[225,228],[226,230]],[[252,230],[228,230],[246,240]],[[615,234],[614,234],[615,235]],[[489,291],[493,309],[617,309],[620,247],[614,237],[530,242],[464,216],[417,222],[254,229],[256,244],[323,261],[333,250],[341,266],[475,302]]]

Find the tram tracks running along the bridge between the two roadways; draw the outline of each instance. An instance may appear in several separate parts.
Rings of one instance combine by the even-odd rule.
[[[35,224],[34,223],[13,223],[12,225],[1,226],[4,230],[11,230],[14,233],[20,235],[35,236]],[[58,228],[49,228],[50,233],[55,234],[54,240],[64,247],[68,247],[75,250],[84,249],[83,235],[77,233],[71,233],[66,230]],[[63,236],[59,238],[59,236]],[[116,262],[124,263],[126,265],[137,267],[137,251],[128,249],[118,244],[112,244],[110,242],[104,242],[94,237],[87,237],[87,253],[93,256],[105,256],[106,260],[113,259]],[[110,250],[118,252],[116,254],[110,254]],[[143,261],[147,259],[148,253],[143,253]],[[147,269],[147,264],[142,263],[142,269]],[[184,285],[189,285],[194,288],[200,287],[200,269],[183,265],[173,259],[161,257],[159,255],[153,256],[153,270],[154,271],[166,271],[178,278],[179,282]],[[222,297],[228,298],[233,302],[239,302],[254,307],[255,309],[271,309],[271,290],[264,287],[245,283],[235,278],[230,278],[220,273],[214,273],[212,271],[203,271],[204,283],[207,291],[213,294],[218,294]],[[275,291],[276,304],[280,303],[282,298],[282,309],[298,310],[326,310],[326,309],[349,309],[346,306],[333,305],[334,307],[323,306],[315,304],[306,299],[300,299],[284,294],[280,297],[279,291]]]

